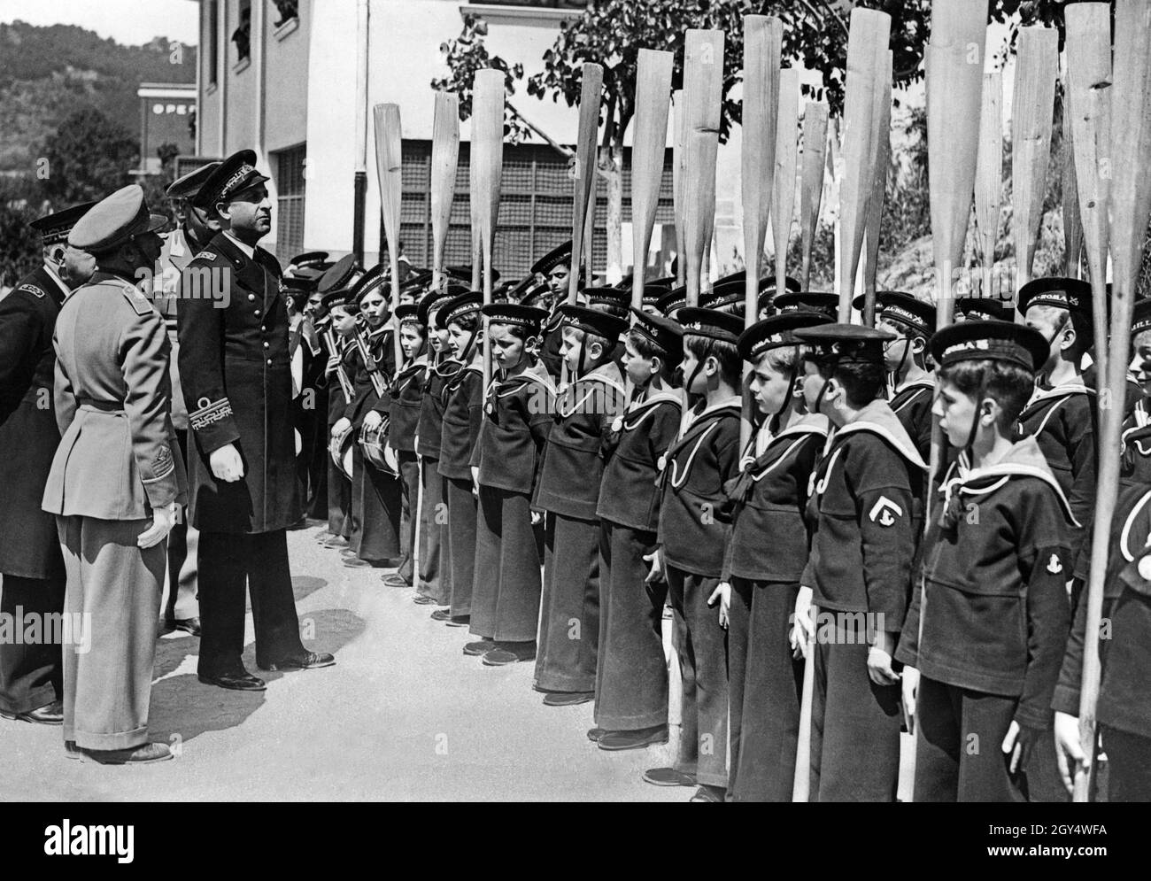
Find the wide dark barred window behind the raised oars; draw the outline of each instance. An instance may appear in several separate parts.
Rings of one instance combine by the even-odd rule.
[[[470,144],[459,145],[456,196],[451,205],[444,265],[472,263],[471,207],[468,199]],[[403,143],[403,200],[399,240],[404,255],[416,267],[432,265],[432,142]],[[656,223],[673,222],[671,151],[664,160]],[[623,222],[630,222],[631,150],[624,152]],[[595,228],[592,265],[602,272],[608,259],[608,187],[602,177],[595,187]],[[549,146],[504,145],[493,266],[509,279],[527,274],[536,259],[571,238],[572,182],[567,160]],[[387,251],[380,226],[380,253]]]

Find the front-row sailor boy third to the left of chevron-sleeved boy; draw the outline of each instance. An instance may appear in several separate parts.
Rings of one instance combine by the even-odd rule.
[[[646,582],[645,560],[660,523],[658,462],[679,432],[683,392],[671,374],[683,357],[683,328],[632,310],[624,343],[632,400],[604,439],[600,518],[600,645],[595,723],[601,750],[633,750],[668,741],[668,662],[663,607],[668,585]]]

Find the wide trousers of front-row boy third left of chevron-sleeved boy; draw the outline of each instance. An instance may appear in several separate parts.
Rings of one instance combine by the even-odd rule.
[[[666,582],[648,584],[643,556],[654,532],[600,522],[600,645],[595,723],[637,731],[668,723],[668,659],[663,653]]]

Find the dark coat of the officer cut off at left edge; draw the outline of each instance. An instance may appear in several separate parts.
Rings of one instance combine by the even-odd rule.
[[[67,290],[44,266],[0,299],[0,572],[63,574],[55,518],[40,510],[60,442],[52,411],[52,333]]]

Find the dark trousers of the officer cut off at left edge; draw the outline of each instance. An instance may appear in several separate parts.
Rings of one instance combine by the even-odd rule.
[[[46,615],[59,615],[64,608],[64,577],[23,578],[3,576],[0,585],[0,613],[14,628],[24,629],[24,620],[37,616],[40,633],[47,632]],[[10,616],[10,617],[9,617]],[[5,713],[28,713],[47,706],[63,694],[63,666],[59,643],[24,643],[15,632],[0,640],[0,709]],[[70,648],[70,647],[69,647]]]

